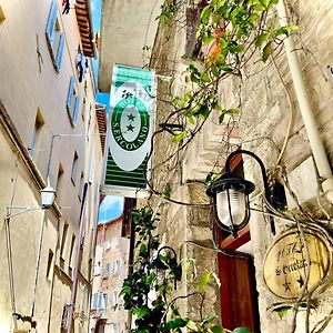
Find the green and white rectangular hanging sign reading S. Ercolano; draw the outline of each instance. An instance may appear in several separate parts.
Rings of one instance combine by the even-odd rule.
[[[147,195],[148,154],[153,131],[154,72],[113,67],[108,119],[104,193],[137,198]]]

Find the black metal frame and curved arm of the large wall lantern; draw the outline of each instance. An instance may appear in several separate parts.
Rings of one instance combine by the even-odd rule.
[[[270,191],[268,175],[266,175],[265,167],[264,167],[262,160],[255,153],[248,151],[248,150],[243,150],[243,149],[236,150],[236,151],[232,152],[231,154],[229,154],[229,157],[226,158],[226,161],[225,161],[224,174],[212,186],[210,186],[206,190],[206,194],[209,196],[213,198],[214,214],[215,214],[215,219],[216,219],[219,226],[222,230],[230,232],[233,235],[233,238],[238,238],[238,232],[241,229],[243,229],[250,220],[249,194],[252,193],[255,189],[255,185],[252,182],[250,182],[241,176],[235,175],[231,171],[231,168],[230,168],[231,161],[235,155],[239,155],[239,154],[250,155],[259,163],[260,169],[261,169],[261,174],[262,174],[262,181],[263,181],[263,185],[264,185],[264,198],[270,205],[274,206],[273,193],[272,193],[272,191]],[[242,221],[242,223],[240,223],[240,224],[233,223],[232,213],[231,213],[230,193],[229,193],[230,189],[233,189],[236,191],[243,191],[245,194],[245,216],[244,216],[244,220]],[[218,215],[216,194],[220,192],[223,192],[223,191],[226,191],[226,195],[228,195],[228,205],[229,205],[229,214],[230,214],[231,225],[223,224],[220,221],[219,215]],[[270,215],[269,219],[270,219],[272,234],[275,235],[276,231],[275,231],[274,219],[272,215]]]

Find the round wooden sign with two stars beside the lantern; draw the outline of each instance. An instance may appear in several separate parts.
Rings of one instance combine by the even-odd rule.
[[[309,255],[309,256],[307,256]],[[307,292],[332,273],[332,252],[322,234],[304,229],[304,238],[293,228],[269,249],[263,268],[264,281],[279,297],[296,299],[307,281]]]

